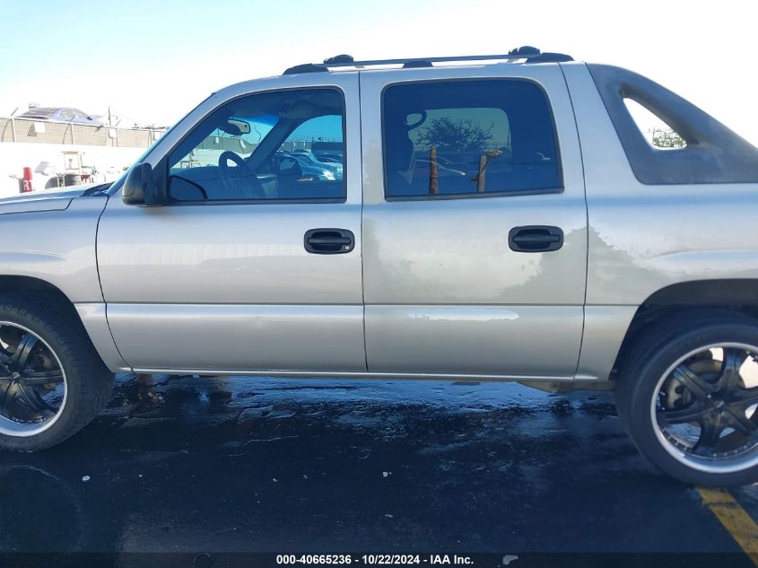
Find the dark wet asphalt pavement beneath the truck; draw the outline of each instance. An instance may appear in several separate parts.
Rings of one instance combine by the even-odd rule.
[[[0,503],[2,553],[740,550],[608,395],[508,383],[119,375]]]

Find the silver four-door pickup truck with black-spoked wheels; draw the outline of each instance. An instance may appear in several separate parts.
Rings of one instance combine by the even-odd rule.
[[[754,146],[536,48],[232,85],[112,185],[0,202],[0,447],[76,433],[114,372],[517,380],[615,389],[652,464],[753,482],[756,205]]]

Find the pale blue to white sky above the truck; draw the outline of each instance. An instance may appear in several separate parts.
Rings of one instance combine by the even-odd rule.
[[[224,85],[338,53],[527,44],[647,74],[758,143],[758,10],[740,0],[0,0],[0,13],[0,115],[34,101],[163,125]]]

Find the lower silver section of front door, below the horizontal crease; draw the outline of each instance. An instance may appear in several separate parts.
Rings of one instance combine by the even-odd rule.
[[[135,368],[366,371],[362,306],[112,303],[108,319]]]

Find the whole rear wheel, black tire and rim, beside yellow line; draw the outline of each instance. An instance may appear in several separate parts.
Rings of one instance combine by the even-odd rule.
[[[693,310],[646,329],[616,387],[640,453],[686,484],[758,481],[758,385],[745,378],[756,357],[758,320],[734,311]]]

